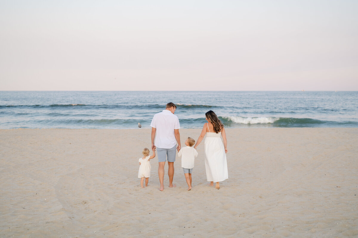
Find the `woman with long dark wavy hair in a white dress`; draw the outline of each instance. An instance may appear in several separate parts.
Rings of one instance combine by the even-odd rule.
[[[228,178],[226,153],[226,133],[224,125],[219,120],[218,116],[213,111],[205,113],[205,120],[208,122],[204,124],[203,130],[195,144],[194,148],[197,149],[200,142],[204,139],[205,151],[205,170],[207,180],[213,186],[216,182],[216,189],[220,189],[219,182]],[[223,142],[220,136],[223,137]]]

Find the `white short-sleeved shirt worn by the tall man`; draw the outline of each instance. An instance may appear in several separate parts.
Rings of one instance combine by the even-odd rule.
[[[169,110],[156,113],[150,123],[156,128],[154,145],[162,149],[170,149],[176,145],[174,129],[180,129],[179,119]]]

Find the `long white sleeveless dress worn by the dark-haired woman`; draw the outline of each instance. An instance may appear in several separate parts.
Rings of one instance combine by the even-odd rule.
[[[216,183],[228,179],[226,154],[221,140],[221,132],[206,132],[204,151],[207,180]]]

